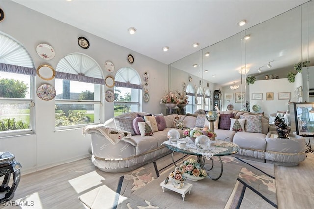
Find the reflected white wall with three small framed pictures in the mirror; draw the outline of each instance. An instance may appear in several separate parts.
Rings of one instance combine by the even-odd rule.
[[[294,83],[289,83],[287,78],[255,81],[254,84],[250,84],[250,111],[254,112],[252,106],[255,104],[261,106],[260,112],[264,112],[265,116],[269,116],[277,110],[286,111],[288,110],[288,101],[287,99],[278,100],[278,93],[290,92],[292,100],[294,90]],[[274,100],[266,100],[267,92],[274,93]],[[262,93],[262,100],[252,100],[252,93]]]

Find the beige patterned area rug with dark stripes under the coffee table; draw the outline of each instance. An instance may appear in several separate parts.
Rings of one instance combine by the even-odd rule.
[[[182,157],[190,156],[177,153],[177,165],[182,163]],[[98,171],[108,181],[82,194],[79,199],[91,209],[277,208],[274,165],[233,156],[221,159],[223,174],[219,180],[186,180],[193,187],[185,201],[180,194],[168,189],[162,192],[160,187],[175,168],[170,154],[117,178],[110,178],[110,175],[118,174]],[[213,172],[217,171],[214,169]]]

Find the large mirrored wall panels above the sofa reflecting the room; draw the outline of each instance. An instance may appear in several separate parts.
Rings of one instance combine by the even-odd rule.
[[[247,35],[250,38],[246,40]],[[247,76],[253,75],[256,80],[264,80],[267,75],[286,78],[289,72],[297,73],[294,65],[299,62],[307,62],[302,68],[300,85],[302,101],[309,101],[309,89],[314,92],[313,0],[172,63],[169,87],[182,90],[185,83],[190,91],[194,90],[191,92],[198,103],[190,101],[194,110],[203,105],[201,109],[213,110],[214,90],[234,93],[229,86],[238,85],[236,92],[246,93],[245,102],[250,99]],[[243,68],[249,71],[240,74]],[[210,104],[203,101],[206,96],[201,97],[206,91],[210,94]],[[243,103],[235,103],[235,109],[242,107]],[[221,104],[220,109],[224,110],[225,106]]]

